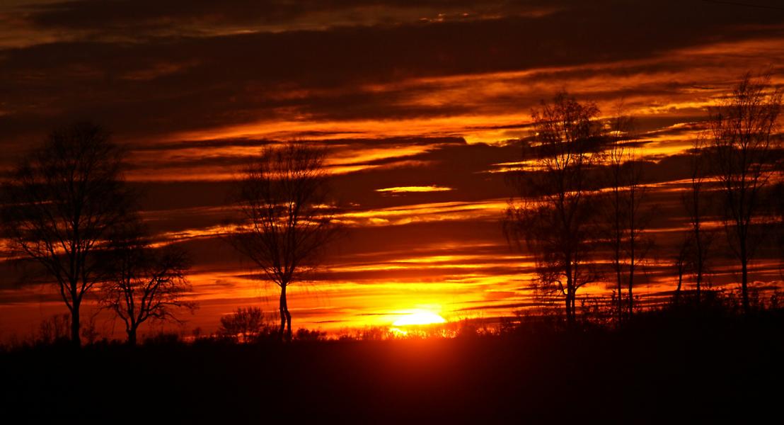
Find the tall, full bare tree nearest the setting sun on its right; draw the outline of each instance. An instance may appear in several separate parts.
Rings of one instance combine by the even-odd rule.
[[[595,104],[580,104],[567,93],[533,112],[535,161],[516,176],[519,198],[504,220],[506,237],[524,241],[535,257],[538,289],[564,297],[569,326],[577,290],[597,279],[590,263],[597,188],[589,173],[601,156],[598,114]]]

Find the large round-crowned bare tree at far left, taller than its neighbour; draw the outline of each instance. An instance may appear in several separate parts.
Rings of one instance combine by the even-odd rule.
[[[105,130],[74,124],[56,129],[23,158],[2,191],[5,234],[56,282],[76,346],[79,307],[103,278],[96,253],[129,209],[121,160]]]

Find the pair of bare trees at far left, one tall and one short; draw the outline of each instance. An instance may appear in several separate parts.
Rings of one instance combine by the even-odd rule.
[[[106,130],[79,122],[50,133],[2,187],[9,257],[33,260],[56,282],[76,346],[86,296],[122,321],[131,344],[145,322],[178,320],[177,309],[196,307],[183,300],[191,290],[187,253],[154,244],[139,194],[125,185],[124,154]]]

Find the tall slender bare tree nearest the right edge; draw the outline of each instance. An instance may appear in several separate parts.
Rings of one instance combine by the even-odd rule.
[[[713,164],[724,194],[724,228],[732,252],[740,261],[743,311],[749,306],[749,262],[760,245],[764,207],[760,194],[775,164],[776,128],[782,110],[782,92],[771,86],[770,76],[751,74],[722,103],[710,110]]]

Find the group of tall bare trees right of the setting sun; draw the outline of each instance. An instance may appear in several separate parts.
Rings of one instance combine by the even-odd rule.
[[[685,301],[689,276],[691,301],[702,303],[724,233],[740,277],[740,305],[750,314],[750,261],[764,244],[782,252],[781,111],[782,92],[769,75],[746,74],[710,107],[706,129],[688,151],[690,178],[681,199],[686,230],[676,251],[663,254],[677,275],[675,303]],[[535,292],[559,298],[569,325],[577,320],[578,290],[594,282],[612,282],[615,322],[630,320],[637,311],[634,288],[655,245],[648,229],[656,213],[653,185],[645,180],[634,120],[622,106],[612,118],[600,114],[568,93],[534,111],[527,166],[510,178],[517,198],[503,220],[510,242],[534,256]]]

